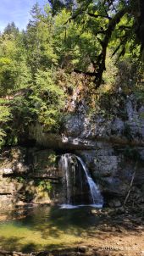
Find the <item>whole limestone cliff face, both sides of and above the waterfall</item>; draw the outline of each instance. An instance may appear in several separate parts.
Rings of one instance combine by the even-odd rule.
[[[136,168],[130,196],[144,207],[144,106],[131,95],[125,97],[123,109],[119,105],[114,111],[109,116],[87,114],[80,106],[65,117],[60,134],[31,125],[28,136],[35,147],[11,148],[1,156],[1,207],[60,202],[62,175],[57,163],[62,153],[75,153],[84,160],[111,206],[124,203]]]

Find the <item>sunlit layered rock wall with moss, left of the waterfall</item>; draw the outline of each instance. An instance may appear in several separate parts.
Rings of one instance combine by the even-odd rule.
[[[61,179],[56,162],[52,150],[36,147],[4,150],[0,163],[0,209],[56,202]]]

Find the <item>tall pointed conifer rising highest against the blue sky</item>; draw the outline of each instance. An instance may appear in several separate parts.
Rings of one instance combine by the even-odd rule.
[[[57,55],[53,52],[53,29],[50,11],[42,14],[38,3],[31,10],[32,19],[26,31],[26,43],[28,64],[30,65],[33,78],[36,71],[51,68],[57,64]]]

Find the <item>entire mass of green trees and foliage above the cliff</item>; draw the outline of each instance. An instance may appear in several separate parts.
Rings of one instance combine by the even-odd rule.
[[[31,122],[58,132],[74,88],[92,107],[119,86],[143,99],[143,13],[141,0],[49,1],[34,5],[26,31],[8,24],[0,35],[0,145],[18,143]]]

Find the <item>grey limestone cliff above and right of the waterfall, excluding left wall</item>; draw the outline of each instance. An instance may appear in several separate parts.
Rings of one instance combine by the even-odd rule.
[[[144,193],[144,106],[131,95],[125,98],[123,108],[119,105],[117,114],[110,118],[95,113],[90,116],[80,108],[65,118],[60,135],[43,133],[37,124],[30,127],[30,138],[37,145],[79,155],[99,182],[106,202],[112,198],[124,202],[137,163],[133,190],[138,203]]]

